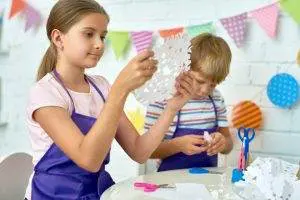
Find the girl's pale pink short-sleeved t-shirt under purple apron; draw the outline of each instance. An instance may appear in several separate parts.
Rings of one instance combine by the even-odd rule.
[[[89,76],[89,78],[100,89],[106,99],[110,90],[110,84],[108,81],[102,76]],[[97,118],[104,106],[104,102],[96,89],[90,83],[89,85],[89,93],[79,93],[70,89],[68,89],[68,91],[72,96],[77,113]],[[34,111],[46,106],[58,106],[65,108],[70,115],[73,110],[72,101],[67,92],[50,73],[44,76],[31,88],[26,109],[26,121],[33,151],[33,166],[39,162],[53,144],[53,140],[32,118]],[[25,197],[28,200],[31,199],[32,177],[33,174],[30,176],[25,194]]]

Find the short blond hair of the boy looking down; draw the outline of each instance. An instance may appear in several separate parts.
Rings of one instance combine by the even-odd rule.
[[[210,33],[202,33],[191,40],[191,69],[201,71],[216,83],[229,73],[231,50],[226,41]]]

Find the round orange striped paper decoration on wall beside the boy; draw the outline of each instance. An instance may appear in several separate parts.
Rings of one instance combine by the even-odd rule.
[[[262,124],[262,112],[255,103],[241,101],[233,107],[231,121],[234,128],[258,129]]]

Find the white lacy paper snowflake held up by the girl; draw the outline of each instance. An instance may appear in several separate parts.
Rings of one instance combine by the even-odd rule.
[[[175,92],[175,78],[190,65],[190,40],[182,34],[167,38],[163,44],[153,47],[155,59],[158,60],[157,71],[142,87],[134,91],[136,99],[148,105],[172,97]]]

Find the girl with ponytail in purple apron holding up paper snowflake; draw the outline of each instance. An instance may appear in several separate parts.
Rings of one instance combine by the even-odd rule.
[[[134,57],[110,86],[87,76],[104,50],[109,17],[94,0],[59,0],[47,22],[48,48],[31,90],[27,121],[34,173],[27,199],[99,199],[114,184],[105,171],[116,138],[143,163],[160,144],[176,112],[190,98],[191,77],[182,76],[177,94],[157,123],[140,136],[123,112],[126,97],[151,78],[153,52]]]

